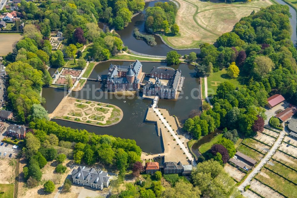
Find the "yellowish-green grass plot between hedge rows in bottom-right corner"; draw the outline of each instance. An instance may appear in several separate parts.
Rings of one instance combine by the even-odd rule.
[[[277,189],[279,192],[282,192],[287,197],[297,197],[296,186],[293,183],[286,181],[282,177],[275,175],[273,172],[265,168],[262,168],[261,171],[266,174],[266,177],[258,174],[256,176],[257,179],[263,181],[269,186],[273,186],[274,189]]]

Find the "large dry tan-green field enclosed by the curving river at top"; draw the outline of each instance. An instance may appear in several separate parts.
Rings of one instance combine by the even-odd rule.
[[[269,0],[253,0],[241,4],[225,4],[224,1],[176,1],[180,5],[176,16],[179,34],[165,34],[162,37],[169,45],[179,49],[197,48],[201,43],[214,43],[220,35],[230,32],[242,17],[272,4]]]

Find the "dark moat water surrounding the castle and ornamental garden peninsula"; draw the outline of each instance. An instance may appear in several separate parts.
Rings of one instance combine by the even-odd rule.
[[[90,75],[90,78],[97,78],[97,75],[107,74],[110,63],[116,65],[128,65],[129,62],[108,61],[98,64]],[[165,63],[143,62],[143,72],[149,73],[153,67],[166,66]],[[195,67],[187,64],[172,66],[174,69],[181,70],[181,75],[185,76],[183,92],[178,100],[160,99],[158,106],[168,109],[170,114],[176,115],[181,122],[188,118],[192,109],[201,108],[199,78],[195,78]],[[86,129],[96,134],[108,134],[115,137],[134,139],[141,149],[148,153],[161,153],[163,151],[162,139],[157,136],[156,126],[144,122],[146,110],[151,104],[151,100],[142,99],[142,95],[134,97],[122,97],[108,92],[95,91],[104,89],[104,85],[95,81],[87,81],[81,91],[72,92],[72,97],[94,100],[103,103],[110,103],[120,107],[124,117],[116,125],[110,127],[97,127],[92,125],[74,123],[64,120],[53,120],[59,125],[71,128]],[[64,97],[64,91],[55,88],[43,88],[42,97],[46,99],[45,109],[51,113]]]

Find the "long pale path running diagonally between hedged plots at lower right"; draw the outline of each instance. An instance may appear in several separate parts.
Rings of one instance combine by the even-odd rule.
[[[245,186],[249,185],[252,178],[255,177],[255,175],[260,172],[261,168],[268,162],[268,160],[274,155],[280,144],[282,143],[282,140],[285,137],[285,131],[281,131],[279,136],[277,137],[277,140],[274,142],[268,153],[265,155],[265,157],[260,161],[260,163],[250,172],[250,174],[247,176],[247,178],[244,180],[244,182],[241,183],[240,186],[238,186],[239,190],[243,190]]]

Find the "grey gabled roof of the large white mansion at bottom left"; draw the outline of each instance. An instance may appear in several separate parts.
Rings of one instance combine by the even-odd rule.
[[[89,179],[90,183],[97,183],[100,186],[109,179],[107,172],[97,171],[94,168],[86,168],[85,166],[78,166],[78,169],[73,169],[71,174],[72,179]]]

